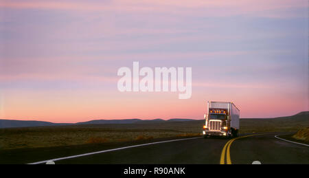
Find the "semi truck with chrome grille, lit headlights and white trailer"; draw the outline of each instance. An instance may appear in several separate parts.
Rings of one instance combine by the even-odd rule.
[[[238,137],[240,111],[233,102],[207,102],[203,135]]]

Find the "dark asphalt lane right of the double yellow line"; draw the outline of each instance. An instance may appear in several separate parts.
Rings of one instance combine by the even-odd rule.
[[[281,133],[284,135],[284,133]],[[231,145],[232,164],[309,164],[309,147],[279,140],[275,133],[244,137]]]

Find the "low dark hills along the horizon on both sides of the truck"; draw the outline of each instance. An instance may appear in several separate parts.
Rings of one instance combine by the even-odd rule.
[[[84,125],[84,124],[152,124],[152,123],[168,123],[168,122],[190,122],[196,121],[193,119],[172,118],[170,120],[154,119],[125,119],[125,120],[89,120],[87,122],[78,123],[53,123],[36,120],[0,120],[0,129],[12,127],[32,127],[32,126],[60,126],[60,125]],[[203,124],[203,120],[198,120]],[[264,130],[271,130],[278,126],[284,126],[286,129],[290,126],[309,126],[309,111],[297,113],[295,115],[278,117],[278,118],[241,118],[240,129],[249,131],[252,127],[259,127]]]

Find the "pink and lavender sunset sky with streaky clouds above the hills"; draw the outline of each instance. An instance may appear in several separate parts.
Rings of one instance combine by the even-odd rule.
[[[120,92],[117,70],[192,67],[192,97]],[[0,119],[241,118],[309,110],[307,0],[0,0]]]

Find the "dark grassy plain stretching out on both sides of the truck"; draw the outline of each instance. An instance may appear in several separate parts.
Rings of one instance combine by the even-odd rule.
[[[87,124],[0,129],[0,151],[155,140],[201,135],[203,120],[144,124]],[[284,118],[242,119],[240,133],[298,131],[309,126],[308,112]]]

